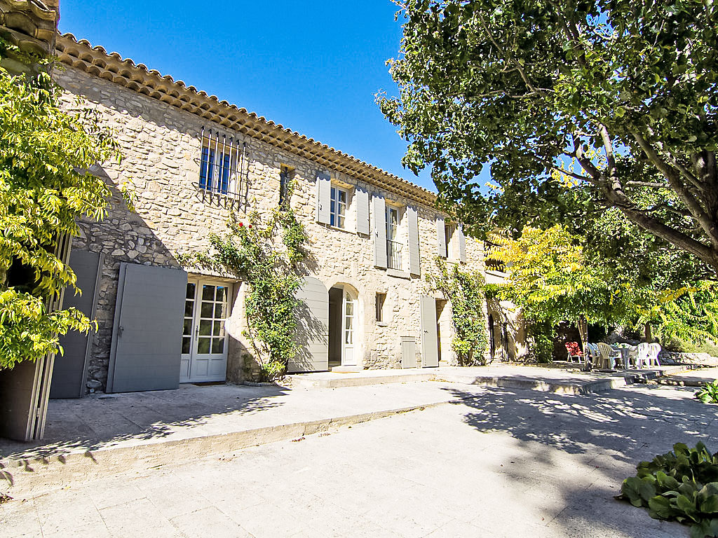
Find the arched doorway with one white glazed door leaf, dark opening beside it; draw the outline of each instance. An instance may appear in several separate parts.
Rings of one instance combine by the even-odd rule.
[[[348,285],[329,290],[329,367],[358,365],[358,301]]]

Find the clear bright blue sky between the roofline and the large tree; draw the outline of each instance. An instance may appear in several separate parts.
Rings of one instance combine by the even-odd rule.
[[[210,7],[206,7],[210,6]],[[396,95],[389,0],[62,0],[60,31],[435,191],[374,103]],[[401,19],[400,19],[401,21]]]

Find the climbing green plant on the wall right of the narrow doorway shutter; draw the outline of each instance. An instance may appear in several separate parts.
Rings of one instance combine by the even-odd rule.
[[[485,280],[478,271],[465,272],[436,259],[437,274],[426,275],[432,289],[444,293],[451,302],[454,339],[452,348],[462,366],[486,364],[488,336],[484,316]]]

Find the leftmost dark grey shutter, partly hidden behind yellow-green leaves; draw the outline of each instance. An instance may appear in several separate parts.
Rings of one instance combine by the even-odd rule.
[[[101,254],[73,249],[70,253],[70,267],[75,271],[77,286],[83,293],[75,295],[72,288],[67,288],[62,308],[74,306],[88,318],[95,318],[102,260]],[[63,353],[55,357],[50,384],[51,398],[81,398],[85,395],[87,363],[93,341],[94,333],[91,331],[88,334],[69,331],[65,336],[60,336]]]

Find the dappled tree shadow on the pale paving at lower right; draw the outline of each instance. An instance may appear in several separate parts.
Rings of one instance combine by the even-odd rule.
[[[687,537],[688,527],[658,522],[613,497],[640,461],[674,443],[703,441],[718,451],[718,408],[692,399],[694,392],[648,386],[583,396],[495,390],[461,405],[467,425],[516,441],[511,457],[493,472],[516,491],[533,488],[559,499],[554,509],[541,511],[537,536],[560,529],[559,535],[572,537]]]

